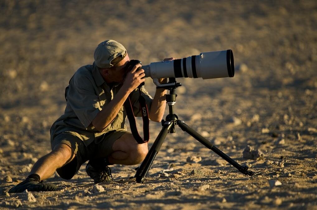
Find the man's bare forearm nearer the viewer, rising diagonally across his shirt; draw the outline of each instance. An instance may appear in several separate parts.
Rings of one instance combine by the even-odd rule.
[[[92,124],[100,132],[103,131],[117,116],[120,108],[128,98],[130,92],[120,88],[117,94],[114,95],[113,99],[102,107],[102,110],[94,118]]]

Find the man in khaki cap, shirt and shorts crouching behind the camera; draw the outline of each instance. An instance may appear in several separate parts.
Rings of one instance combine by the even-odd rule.
[[[25,189],[53,191],[57,186],[42,180],[55,170],[63,179],[71,179],[87,160],[86,171],[94,183],[112,179],[108,165],[133,165],[144,160],[147,143],[137,143],[127,132],[123,104],[130,95],[134,115],[141,116],[138,86],[145,81],[145,74],[143,69],[136,71],[140,64],[127,72],[129,60],[126,49],[117,41],[107,40],[98,45],[93,65],[79,68],[65,90],[65,113],[50,130],[52,152],[41,157],[26,180],[9,193]],[[163,118],[165,94],[165,89],[156,89],[152,99],[141,87],[152,121],[160,122]]]

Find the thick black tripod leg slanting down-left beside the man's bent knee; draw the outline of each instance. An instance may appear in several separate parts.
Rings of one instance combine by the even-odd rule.
[[[139,169],[135,173],[135,178],[138,183],[143,183],[147,172],[149,171],[155,156],[159,153],[159,150],[162,146],[162,143],[168,133],[171,130],[171,127],[174,126],[173,122],[165,121],[162,130],[159,132],[159,135],[156,137],[151,149],[147,153],[144,161],[141,163]]]

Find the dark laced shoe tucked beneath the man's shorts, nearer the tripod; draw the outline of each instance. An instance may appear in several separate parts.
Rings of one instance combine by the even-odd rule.
[[[86,165],[86,172],[94,180],[95,184],[112,181],[111,169],[105,166],[103,169],[95,169],[89,162]]]

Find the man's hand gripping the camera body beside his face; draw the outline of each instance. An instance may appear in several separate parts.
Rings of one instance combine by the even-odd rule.
[[[145,81],[145,73],[143,69],[137,71],[137,68],[141,67],[141,64],[137,64],[133,69],[126,74],[126,78],[123,81],[123,88],[126,88],[128,92],[132,92],[137,88],[142,82]]]

